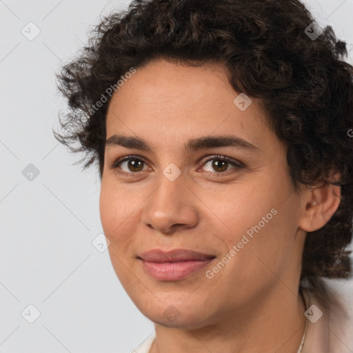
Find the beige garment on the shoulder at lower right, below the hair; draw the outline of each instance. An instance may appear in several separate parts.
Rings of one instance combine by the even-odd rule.
[[[303,290],[307,305],[303,353],[353,352],[353,288],[348,284],[348,290],[341,290],[345,283],[327,281],[327,298]]]

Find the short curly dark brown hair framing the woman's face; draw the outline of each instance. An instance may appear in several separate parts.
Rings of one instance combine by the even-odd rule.
[[[88,46],[57,73],[70,112],[60,119],[63,134],[54,136],[72,152],[85,152],[84,168],[98,159],[102,177],[110,96],[93,107],[125,72],[153,59],[222,63],[232,88],[260,99],[270,128],[287,143],[295,190],[341,186],[339,208],[309,232],[303,250],[300,288],[306,282],[320,292],[324,277],[352,275],[346,248],[353,231],[353,67],[332,27],[319,35],[313,22],[298,0],[134,0],[128,10],[104,16]],[[330,179],[330,170],[340,179]]]

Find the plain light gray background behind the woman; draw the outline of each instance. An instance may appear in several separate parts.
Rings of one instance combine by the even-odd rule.
[[[349,43],[352,62],[353,0],[305,2]],[[0,352],[121,353],[154,330],[125,294],[108,250],[92,246],[103,232],[98,170],[82,172],[73,165],[80,155],[52,135],[65,109],[54,72],[100,15],[128,3],[0,0]],[[41,30],[33,41],[21,33],[30,21]],[[32,181],[22,174],[29,163],[40,172]],[[353,300],[352,281],[336,285]],[[34,323],[23,318],[34,315],[30,304],[41,313]]]

